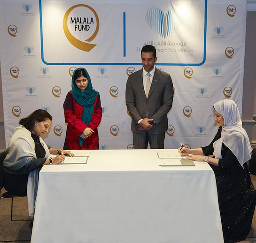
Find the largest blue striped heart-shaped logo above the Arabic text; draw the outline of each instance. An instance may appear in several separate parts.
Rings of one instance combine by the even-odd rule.
[[[146,22],[148,26],[160,37],[167,38],[171,34],[171,10],[164,15],[160,8],[152,7],[147,9]]]

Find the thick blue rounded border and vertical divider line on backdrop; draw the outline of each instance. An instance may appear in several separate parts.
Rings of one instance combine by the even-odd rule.
[[[204,41],[203,41],[203,60],[200,63],[155,63],[157,66],[201,66],[206,60],[206,27],[207,27],[207,1],[204,3]],[[43,23],[42,23],[42,0],[39,0],[39,18],[40,18],[40,39],[41,39],[41,58],[44,64],[46,65],[105,65],[105,66],[139,66],[141,62],[47,62],[44,59],[44,41],[43,41]],[[123,38],[124,38],[124,50],[123,55],[126,56],[126,13],[123,13]]]

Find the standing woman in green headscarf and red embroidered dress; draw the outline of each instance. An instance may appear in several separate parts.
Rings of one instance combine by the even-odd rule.
[[[77,68],[72,76],[72,90],[63,104],[68,123],[64,149],[99,149],[97,127],[101,122],[101,99],[93,90],[85,68]]]

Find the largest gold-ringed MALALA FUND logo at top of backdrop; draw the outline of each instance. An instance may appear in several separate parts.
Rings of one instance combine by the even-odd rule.
[[[96,44],[90,43],[98,34],[99,17],[96,11],[85,4],[74,5],[63,18],[66,38],[76,48],[90,52]]]

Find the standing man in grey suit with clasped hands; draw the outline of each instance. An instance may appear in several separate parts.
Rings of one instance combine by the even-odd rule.
[[[132,116],[135,149],[163,149],[168,127],[167,113],[173,100],[171,76],[155,68],[155,46],[141,49],[143,68],[132,73],[126,83],[125,102]]]

